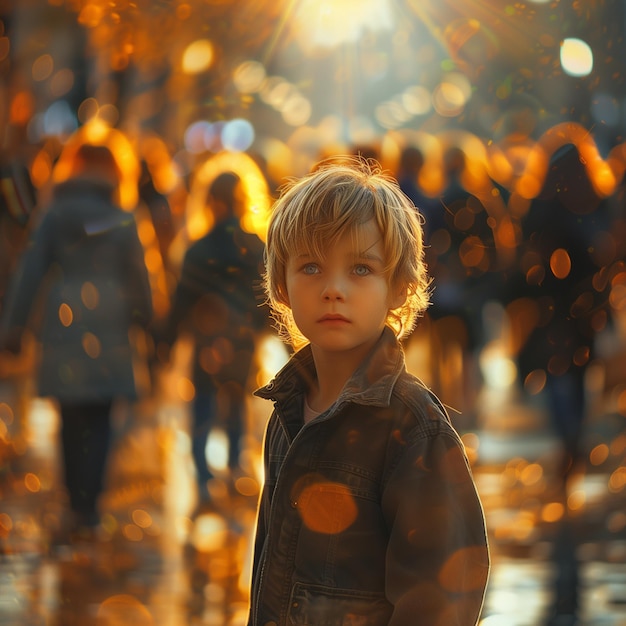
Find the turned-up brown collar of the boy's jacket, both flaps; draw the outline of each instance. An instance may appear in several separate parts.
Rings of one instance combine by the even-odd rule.
[[[385,327],[372,351],[344,386],[335,405],[355,402],[389,406],[394,385],[404,371],[404,352],[393,331]],[[284,404],[306,392],[314,380],[315,364],[310,346],[296,352],[274,379],[255,395]]]

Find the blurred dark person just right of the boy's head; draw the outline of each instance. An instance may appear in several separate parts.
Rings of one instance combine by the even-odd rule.
[[[438,354],[433,389],[475,426],[473,400],[479,375],[477,351],[484,343],[483,307],[496,291],[495,245],[486,207],[466,187],[468,156],[456,146],[443,154],[446,185],[436,206],[424,211],[425,257],[433,277],[427,322]]]

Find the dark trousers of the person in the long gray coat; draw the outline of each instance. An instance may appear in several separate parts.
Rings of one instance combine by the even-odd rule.
[[[111,401],[59,405],[65,485],[81,525],[98,521],[98,498],[112,439]]]

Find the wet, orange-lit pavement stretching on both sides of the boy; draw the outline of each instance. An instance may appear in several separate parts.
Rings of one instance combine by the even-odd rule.
[[[588,458],[563,506],[554,480],[558,446],[541,407],[510,390],[481,394],[477,419],[459,427],[491,538],[493,570],[481,624],[626,626],[623,416],[606,403],[596,407],[585,435]],[[224,446],[216,435],[209,445],[218,476],[215,506],[194,517],[187,405],[162,394],[121,407],[103,528],[98,536],[55,545],[65,510],[56,412],[45,400],[24,402],[5,380],[0,624],[245,624],[267,407],[251,399],[250,414],[247,471],[230,477],[220,469]],[[557,587],[578,621],[567,616],[567,603],[547,620]]]

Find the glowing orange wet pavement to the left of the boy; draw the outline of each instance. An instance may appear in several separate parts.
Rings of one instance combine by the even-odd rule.
[[[6,406],[6,405],[5,405]],[[145,409],[138,407],[137,410]],[[5,448],[0,512],[3,626],[241,624],[258,483],[216,480],[215,506],[191,515],[184,411],[135,416],[118,433],[102,529],[57,542],[56,414],[33,403],[23,453]]]

